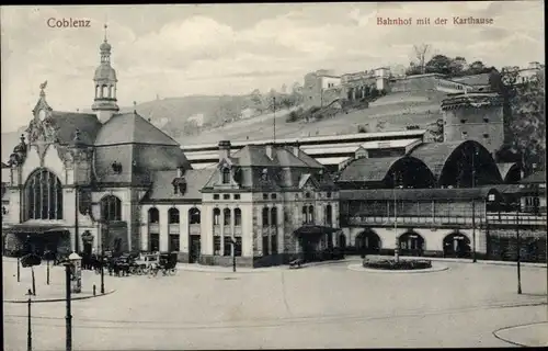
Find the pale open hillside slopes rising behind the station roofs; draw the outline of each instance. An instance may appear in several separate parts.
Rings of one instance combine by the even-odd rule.
[[[276,112],[276,137],[306,137],[316,135],[336,135],[356,133],[358,125],[369,132],[401,131],[408,125],[426,127],[442,117],[439,102],[445,94],[439,92],[393,93],[372,102],[368,109],[341,113],[319,122],[287,123],[287,114],[293,110]],[[216,144],[221,139],[259,140],[273,137],[273,114],[251,116],[249,118],[224,122],[227,109],[246,109],[248,97],[184,97],[155,100],[137,104],[137,111],[144,117],[164,129],[182,145]],[[133,107],[122,107],[123,112]],[[204,116],[208,129],[194,135],[183,135],[185,121],[195,115]],[[28,116],[30,120],[30,116]],[[162,123],[163,120],[163,123]],[[213,124],[220,124],[214,127]],[[383,126],[381,126],[383,125]],[[3,161],[9,159],[13,147],[24,127],[14,133],[2,133]]]

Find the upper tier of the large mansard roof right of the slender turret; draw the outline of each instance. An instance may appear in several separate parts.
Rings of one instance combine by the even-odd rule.
[[[95,139],[95,146],[117,144],[155,144],[179,146],[169,135],[135,112],[113,115]]]

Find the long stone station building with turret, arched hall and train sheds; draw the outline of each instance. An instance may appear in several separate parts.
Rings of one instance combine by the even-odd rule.
[[[206,150],[213,165],[195,169],[179,143],[137,111],[119,113],[106,38],[100,56],[93,113],[55,111],[41,87],[27,134],[2,168],[5,253],[159,250],[178,252],[182,262],[229,265],[236,257],[248,267],[297,254],[312,260],[333,248],[490,258],[509,252],[494,238],[518,224],[536,238],[524,244],[532,260],[541,256],[546,205],[532,200],[534,211],[518,206],[518,214],[509,199],[530,188],[520,184],[520,165],[496,163],[484,132],[471,137],[476,131],[459,121],[471,118],[478,101],[478,113],[499,118],[489,94],[444,101],[450,121],[444,143],[425,143],[424,131],[387,148],[367,144],[387,140],[359,140],[350,159],[347,150],[330,155],[345,158],[340,170],[298,144],[235,149],[228,140],[219,141],[215,160]],[[529,196],[546,199],[545,188],[535,186]]]

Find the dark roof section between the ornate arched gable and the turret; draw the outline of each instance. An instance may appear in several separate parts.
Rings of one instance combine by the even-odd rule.
[[[76,129],[80,131],[80,140],[85,145],[93,145],[101,129],[101,122],[92,113],[52,111],[52,116],[57,129],[60,144],[71,144]]]

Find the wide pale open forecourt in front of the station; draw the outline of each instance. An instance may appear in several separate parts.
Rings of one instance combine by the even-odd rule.
[[[493,331],[547,319],[543,268],[523,269],[517,295],[513,267],[447,262],[447,271],[376,274],[349,265],[107,276],[113,294],[72,303],[73,348],[507,347]],[[16,284],[14,269],[4,260],[4,290]],[[45,268],[35,272],[38,284]],[[99,275],[84,273],[84,286],[98,284]],[[3,306],[5,348],[23,350],[26,305]],[[33,347],[64,349],[64,302],[33,305]]]

